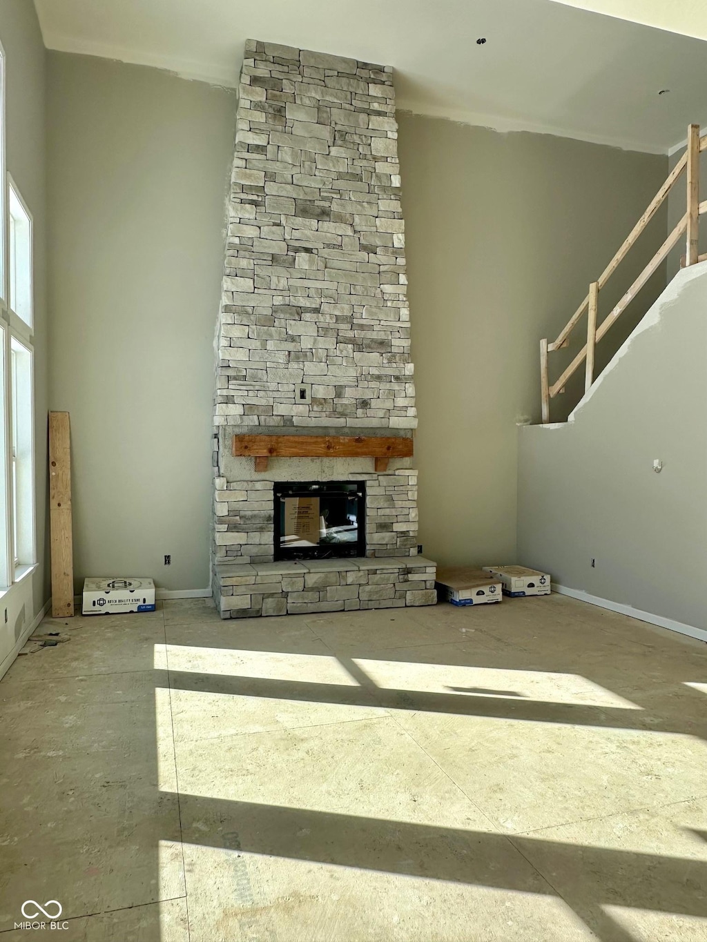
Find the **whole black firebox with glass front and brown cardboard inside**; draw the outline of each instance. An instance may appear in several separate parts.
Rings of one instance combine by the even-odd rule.
[[[366,555],[364,481],[288,481],[273,494],[275,560]]]

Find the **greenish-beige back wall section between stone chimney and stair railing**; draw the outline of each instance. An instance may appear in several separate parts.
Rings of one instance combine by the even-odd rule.
[[[513,560],[516,423],[539,420],[538,342],[559,333],[628,235],[666,176],[666,158],[399,118],[419,541],[441,563]],[[607,288],[602,316],[663,241],[665,226],[665,215],[655,220]],[[600,363],[662,285],[661,274],[607,334]],[[555,377],[580,342],[578,335],[556,355]],[[557,418],[579,400],[579,382],[553,400]]]

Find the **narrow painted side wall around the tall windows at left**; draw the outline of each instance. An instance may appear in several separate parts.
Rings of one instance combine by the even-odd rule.
[[[6,56],[8,171],[34,219],[34,347],[35,347],[35,574],[13,587],[0,607],[0,674],[2,660],[30,625],[49,594],[47,527],[47,303],[46,205],[44,141],[44,64],[34,4],[0,0],[0,42]],[[8,608],[5,624],[3,609]],[[7,666],[7,664],[6,664]]]

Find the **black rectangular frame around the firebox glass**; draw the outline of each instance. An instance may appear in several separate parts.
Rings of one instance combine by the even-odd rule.
[[[354,543],[318,546],[280,545],[282,537],[281,498],[355,495],[358,539]],[[339,560],[366,556],[366,482],[363,480],[289,480],[276,481],[272,487],[274,560]]]

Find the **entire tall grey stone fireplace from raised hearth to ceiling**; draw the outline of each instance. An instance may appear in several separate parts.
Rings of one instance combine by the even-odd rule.
[[[217,331],[224,618],[436,602],[435,564],[417,555],[417,472],[372,457],[417,425],[394,101],[388,66],[246,43]],[[238,453],[244,433],[293,447],[259,463]],[[360,447],[282,457],[298,451],[289,436]],[[273,488],[347,481],[365,490],[365,556],[276,561]]]

